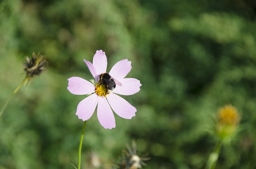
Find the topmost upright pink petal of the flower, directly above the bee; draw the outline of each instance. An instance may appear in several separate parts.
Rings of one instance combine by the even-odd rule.
[[[94,65],[98,75],[106,73],[108,61],[105,52],[102,50],[96,51],[92,64]]]

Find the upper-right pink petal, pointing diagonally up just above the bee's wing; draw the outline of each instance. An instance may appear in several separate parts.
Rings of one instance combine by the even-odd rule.
[[[131,61],[128,61],[128,59],[124,59],[116,63],[112,69],[110,70],[109,74],[110,76],[114,77],[114,79],[120,81],[126,75],[131,71]]]

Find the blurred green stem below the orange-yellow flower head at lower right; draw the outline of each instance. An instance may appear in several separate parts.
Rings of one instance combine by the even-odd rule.
[[[212,152],[209,156],[205,169],[215,169],[216,163],[218,161],[220,155],[220,149],[222,146],[222,141],[218,140],[214,152]]]

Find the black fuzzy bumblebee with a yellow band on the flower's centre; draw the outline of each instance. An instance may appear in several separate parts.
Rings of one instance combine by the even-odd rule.
[[[122,86],[120,82],[118,82],[116,79],[111,77],[108,73],[102,73],[99,76],[99,86],[100,85],[105,85],[106,87],[106,94],[108,93],[108,90],[113,90],[116,88],[116,85]]]

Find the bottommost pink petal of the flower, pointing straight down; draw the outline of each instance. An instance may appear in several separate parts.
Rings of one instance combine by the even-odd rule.
[[[100,124],[104,128],[112,129],[116,127],[116,122],[114,114],[108,104],[108,101],[105,97],[98,97],[98,108],[97,116]]]

